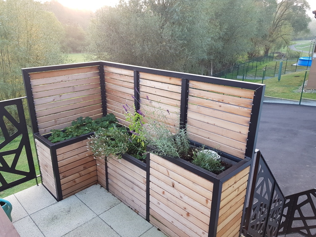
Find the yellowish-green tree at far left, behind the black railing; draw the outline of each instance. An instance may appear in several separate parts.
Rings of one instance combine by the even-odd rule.
[[[0,100],[24,95],[21,68],[61,64],[63,28],[33,0],[0,0]]]

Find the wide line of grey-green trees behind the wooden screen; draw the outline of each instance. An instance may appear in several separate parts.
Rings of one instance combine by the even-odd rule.
[[[305,0],[130,0],[91,20],[91,59],[211,75],[285,47],[311,21]]]

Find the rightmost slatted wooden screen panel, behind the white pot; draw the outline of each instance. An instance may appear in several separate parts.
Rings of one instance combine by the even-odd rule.
[[[189,138],[245,158],[254,91],[207,82],[189,82]]]

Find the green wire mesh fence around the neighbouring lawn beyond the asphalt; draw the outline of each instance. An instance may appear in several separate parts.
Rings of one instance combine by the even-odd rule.
[[[299,102],[302,99],[316,100],[316,75],[309,72],[310,67],[297,65],[298,58],[278,61],[274,58],[271,53],[262,56],[261,59],[259,57],[245,64],[236,65],[221,72],[222,75],[214,76],[265,84],[265,96],[268,97]]]

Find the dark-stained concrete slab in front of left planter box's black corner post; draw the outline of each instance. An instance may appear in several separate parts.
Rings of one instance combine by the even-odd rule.
[[[46,237],[61,237],[96,214],[73,195],[30,216]]]

